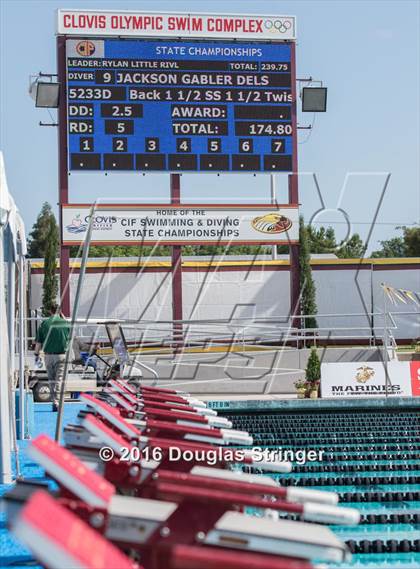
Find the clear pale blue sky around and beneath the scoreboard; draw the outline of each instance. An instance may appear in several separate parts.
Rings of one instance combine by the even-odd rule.
[[[28,96],[29,75],[55,72],[55,10],[103,8],[291,14],[298,23],[297,75],[322,79],[328,86],[328,112],[316,116],[311,133],[299,133],[300,202],[306,219],[332,224],[344,237],[351,231],[367,238],[388,173],[385,193],[369,249],[397,234],[396,225],[419,221],[419,2],[171,0],[43,1],[2,0],[1,130],[9,187],[28,229],[43,201],[57,202],[57,133]],[[302,126],[313,115],[300,114]],[[324,208],[320,205],[316,174]],[[115,175],[114,175],[115,176]],[[105,183],[106,182],[106,183]],[[116,185],[118,188],[116,188]],[[278,201],[286,200],[286,180],[277,176]],[[190,202],[269,199],[269,177],[227,174],[184,175],[183,197]],[[168,175],[91,176],[74,184],[71,200],[125,196],[136,201],[165,201]],[[340,197],[341,196],[341,197]]]

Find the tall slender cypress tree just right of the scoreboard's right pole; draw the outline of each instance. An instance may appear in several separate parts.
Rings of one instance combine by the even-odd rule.
[[[317,313],[316,289],[311,271],[311,252],[308,228],[303,217],[299,218],[299,268],[300,268],[300,311],[301,314]],[[314,316],[305,318],[305,328],[317,328]]]

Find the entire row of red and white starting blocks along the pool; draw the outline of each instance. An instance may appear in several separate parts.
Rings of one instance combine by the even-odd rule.
[[[243,472],[291,464],[257,461],[249,433],[201,401],[123,379],[81,399],[65,446],[41,435],[28,451],[57,490],[20,483],[5,498],[14,533],[46,567],[309,569],[349,559],[322,524],[357,524],[358,511],[335,493]]]

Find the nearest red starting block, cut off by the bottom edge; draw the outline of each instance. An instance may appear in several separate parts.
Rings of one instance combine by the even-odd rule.
[[[143,569],[45,492],[30,498],[13,531],[48,569]],[[313,568],[299,559],[191,545],[165,548],[158,563],[159,569]]]

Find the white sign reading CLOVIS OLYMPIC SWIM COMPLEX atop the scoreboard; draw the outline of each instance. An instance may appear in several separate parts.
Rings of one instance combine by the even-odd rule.
[[[77,36],[159,36],[293,40],[294,16],[58,10],[57,33]]]

